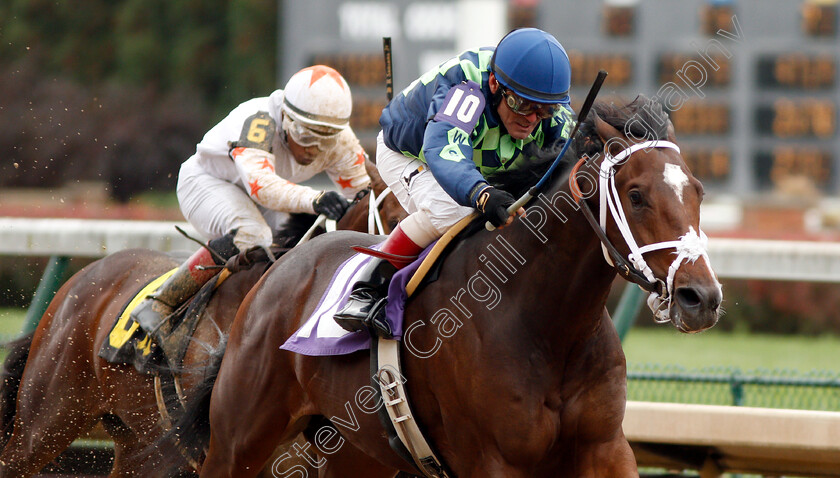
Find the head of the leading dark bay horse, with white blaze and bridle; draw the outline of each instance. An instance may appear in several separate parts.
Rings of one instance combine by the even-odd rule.
[[[634,282],[652,292],[658,322],[689,333],[715,325],[723,294],[700,230],[703,186],[662,107],[643,96],[624,106],[596,103],[580,133],[574,157],[587,160],[575,169],[575,184],[620,254],[604,246],[607,262],[631,280],[635,272]]]

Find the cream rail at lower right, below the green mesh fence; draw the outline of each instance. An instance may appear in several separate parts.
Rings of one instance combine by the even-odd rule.
[[[840,413],[627,402],[640,465],[767,476],[840,476]]]

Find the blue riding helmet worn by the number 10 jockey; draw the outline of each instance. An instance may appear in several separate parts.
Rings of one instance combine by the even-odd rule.
[[[522,98],[569,104],[569,55],[550,33],[536,28],[513,30],[496,47],[490,69],[499,83]]]

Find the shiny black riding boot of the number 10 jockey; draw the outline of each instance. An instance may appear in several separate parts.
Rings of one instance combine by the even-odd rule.
[[[335,313],[335,321],[341,328],[355,332],[370,329],[379,337],[393,337],[391,325],[385,320],[385,304],[388,302],[388,283],[397,268],[385,259],[372,257],[365,266],[347,304]]]

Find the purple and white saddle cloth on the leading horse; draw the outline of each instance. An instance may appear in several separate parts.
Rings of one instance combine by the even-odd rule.
[[[396,340],[403,333],[403,311],[407,299],[405,286],[433,245],[427,247],[414,262],[397,271],[388,286],[385,315],[391,323]],[[353,284],[370,260],[371,256],[356,253],[344,261],[333,274],[315,311],[280,348],[303,355],[344,355],[370,348],[370,334],[367,331],[349,332],[333,320],[336,311],[347,303]]]

